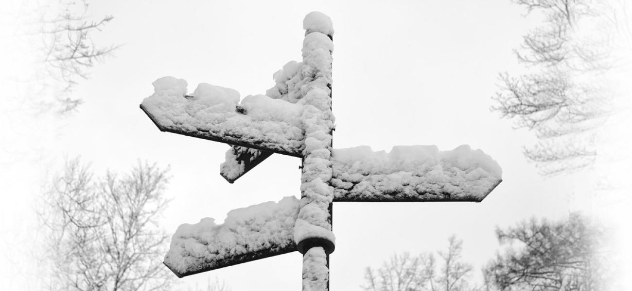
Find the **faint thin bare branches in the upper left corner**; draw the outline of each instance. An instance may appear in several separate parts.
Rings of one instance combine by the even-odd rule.
[[[8,16],[16,26],[11,46],[29,56],[28,62],[14,64],[29,68],[15,72],[12,81],[17,92],[5,97],[19,101],[11,104],[11,110],[36,115],[76,111],[83,102],[72,94],[76,86],[119,48],[95,43],[113,16],[93,16],[87,0],[27,1],[11,8],[13,14]]]

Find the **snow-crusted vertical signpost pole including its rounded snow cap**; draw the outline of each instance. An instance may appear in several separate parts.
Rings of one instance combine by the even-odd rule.
[[[310,18],[308,20],[308,18]],[[314,20],[323,21],[323,23],[314,23]],[[319,21],[319,22],[320,22]],[[298,251],[303,253],[303,291],[329,291],[329,254],[334,250],[334,237],[331,232],[332,214],[333,214],[333,190],[329,179],[331,179],[331,164],[327,167],[323,167],[323,161],[331,161],[331,150],[333,144],[333,115],[331,113],[331,88],[332,88],[332,76],[331,76],[331,53],[332,46],[327,44],[333,40],[333,30],[331,28],[331,20],[329,17],[322,13],[310,13],[303,21],[303,28],[305,28],[305,39],[303,42],[303,64],[307,67],[312,67],[316,72],[313,72],[313,85],[308,86],[310,88],[308,93],[303,96],[306,98],[312,90],[318,95],[327,92],[327,98],[329,106],[326,103],[322,103],[322,99],[314,99],[315,103],[312,105],[308,112],[307,118],[312,120],[310,125],[306,124],[305,138],[306,139],[320,139],[322,140],[323,131],[329,134],[331,137],[329,144],[322,144],[321,149],[327,151],[321,151],[321,149],[315,149],[313,147],[309,150],[306,147],[303,156],[303,164],[301,166],[303,175],[301,175],[301,181],[306,184],[305,187],[301,186],[301,212],[298,219],[303,219],[301,213],[303,207],[308,205],[310,211],[319,209],[317,214],[310,214],[304,217],[305,221],[319,229],[316,233],[322,231],[329,232],[329,235],[322,236],[322,234],[316,234],[315,236],[303,239],[298,244]],[[311,35],[310,41],[316,40],[320,43],[307,43],[308,36],[311,33],[317,33]],[[327,39],[327,37],[329,39]],[[322,42],[322,38],[325,38],[325,42]],[[329,50],[329,56],[324,57],[322,52]],[[325,53],[326,54],[326,53]],[[308,57],[308,59],[306,59]],[[318,58],[315,60],[314,58]],[[329,60],[329,64],[324,63],[324,59]],[[325,81],[325,82],[322,82]],[[309,98],[314,98],[312,97]],[[325,106],[323,106],[325,105]],[[306,111],[307,112],[307,111]],[[305,112],[303,113],[305,116]],[[314,120],[313,118],[316,118]],[[307,123],[307,122],[306,122]],[[306,165],[307,161],[307,165]],[[314,162],[317,161],[317,162]],[[329,162],[331,163],[331,162]],[[318,171],[317,173],[306,172]],[[325,178],[325,177],[329,178]],[[325,190],[328,189],[328,190]],[[327,200],[329,203],[327,203]],[[325,204],[327,203],[327,204]],[[307,210],[307,208],[306,208]],[[326,215],[326,217],[324,217]],[[326,219],[322,221],[322,219]],[[312,226],[310,226],[312,227]],[[324,228],[324,229],[323,229]]]

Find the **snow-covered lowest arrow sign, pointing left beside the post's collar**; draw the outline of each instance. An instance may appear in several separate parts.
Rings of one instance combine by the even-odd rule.
[[[205,218],[173,234],[164,264],[178,277],[296,251],[298,199],[231,210],[223,224]]]

